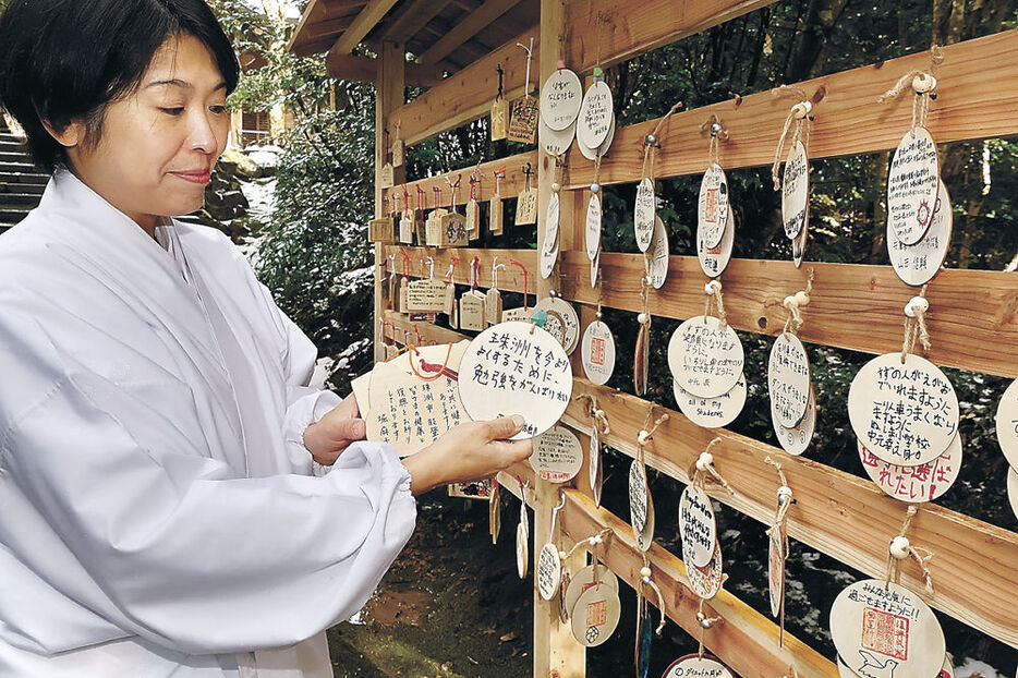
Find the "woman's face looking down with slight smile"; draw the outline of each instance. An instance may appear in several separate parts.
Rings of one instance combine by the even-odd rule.
[[[82,143],[80,123],[64,133],[74,142],[71,169],[149,234],[159,217],[199,209],[227,144],[226,87],[205,45],[190,35],[171,37],[137,92],[107,108],[95,147]]]

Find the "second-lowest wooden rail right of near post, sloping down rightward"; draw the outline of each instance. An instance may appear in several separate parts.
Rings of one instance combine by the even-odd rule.
[[[594,395],[608,417],[610,433],[604,436],[604,441],[634,456],[637,435],[652,403],[577,378],[572,395],[575,398],[582,394]],[[573,399],[563,420],[590,432],[591,420],[584,407]],[[768,525],[774,520],[774,493],[779,483],[774,469],[764,459],[768,456],[780,459],[781,470],[796,497],[796,504],[788,511],[789,535],[871,577],[882,579],[885,576],[887,547],[901,529],[907,505],[884,495],[870,481],[804,457],[791,457],[778,448],[728,431],[702,428],[680,412],[653,407],[658,414],[668,412],[669,419],[646,448],[647,465],[688,484],[689,469],[694,467],[711,440],[718,437],[720,444],[711,449],[714,465],[735,495],[716,484],[708,485],[707,493]],[[670,529],[664,517],[658,521],[659,532]],[[928,596],[930,604],[1018,647],[1015,593],[1018,591],[1018,569],[1015,568],[1018,534],[934,504],[923,504],[912,519],[908,537],[914,546],[930,548],[935,554],[929,562],[935,588],[933,596]],[[914,562],[904,565],[901,571],[905,585],[912,591],[923,591]],[[723,658],[728,661],[727,656]]]

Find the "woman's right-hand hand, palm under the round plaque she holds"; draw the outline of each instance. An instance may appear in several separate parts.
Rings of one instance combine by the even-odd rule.
[[[523,428],[523,417],[470,422],[451,428],[416,455],[403,460],[410,489],[420,495],[449,483],[492,477],[534,451],[532,440],[509,440]]]

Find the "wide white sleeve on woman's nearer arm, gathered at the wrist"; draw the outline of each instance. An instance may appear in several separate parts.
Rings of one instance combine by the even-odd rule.
[[[163,646],[306,639],[366,602],[413,530],[410,476],[389,446],[352,445],[325,477],[229,479],[186,440],[140,445],[147,405],[93,373],[31,394],[7,411],[0,470],[90,579],[54,585]],[[16,555],[39,558],[31,545]]]

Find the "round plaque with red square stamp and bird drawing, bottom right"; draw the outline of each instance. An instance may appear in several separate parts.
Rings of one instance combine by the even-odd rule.
[[[831,606],[838,656],[859,676],[929,678],[944,665],[944,631],[930,607],[898,584],[866,579]]]

